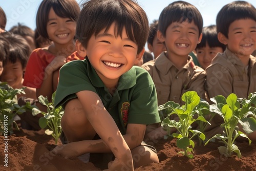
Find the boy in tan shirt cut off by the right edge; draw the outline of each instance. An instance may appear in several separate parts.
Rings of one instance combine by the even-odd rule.
[[[216,19],[218,39],[226,45],[224,53],[212,59],[206,69],[209,98],[236,94],[248,98],[256,92],[256,9],[245,1],[234,1],[222,7]],[[216,115],[208,126],[208,137],[222,133],[223,119]],[[255,132],[248,135],[256,140]]]

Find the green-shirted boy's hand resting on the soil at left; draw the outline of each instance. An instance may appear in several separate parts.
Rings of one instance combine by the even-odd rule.
[[[77,152],[76,145],[74,145],[72,142],[64,145],[58,145],[50,153],[53,155],[60,155],[65,159],[70,159],[80,155]]]

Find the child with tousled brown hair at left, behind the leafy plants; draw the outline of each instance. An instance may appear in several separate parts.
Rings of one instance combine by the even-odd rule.
[[[21,89],[24,86],[23,73],[30,55],[27,41],[20,35],[11,32],[0,34],[0,82],[7,82],[8,88]],[[26,94],[16,94],[15,99],[20,106],[26,102],[36,105],[35,89],[26,88]],[[26,111],[14,118],[20,120],[20,126],[27,130],[40,130],[39,118]]]

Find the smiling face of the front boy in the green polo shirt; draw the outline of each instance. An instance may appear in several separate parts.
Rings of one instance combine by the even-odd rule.
[[[143,50],[139,54],[136,42],[128,38],[125,28],[122,37],[115,33],[115,23],[109,30],[104,29],[97,36],[89,39],[87,48],[79,41],[76,42],[77,52],[81,56],[88,56],[91,65],[105,83],[112,80],[117,83],[119,77],[129,71],[134,63],[140,60]]]

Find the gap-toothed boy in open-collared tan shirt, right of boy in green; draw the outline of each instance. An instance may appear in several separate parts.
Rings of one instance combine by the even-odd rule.
[[[164,42],[167,51],[161,53],[156,60],[141,66],[153,78],[158,105],[167,101],[182,105],[184,102],[181,97],[187,91],[196,91],[205,99],[205,71],[195,66],[189,56],[202,38],[202,15],[195,6],[176,1],[162,10],[158,22],[157,37]],[[174,131],[176,130],[173,129],[170,133]],[[149,125],[145,138],[158,139],[164,134],[166,132],[161,126]]]

